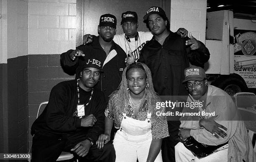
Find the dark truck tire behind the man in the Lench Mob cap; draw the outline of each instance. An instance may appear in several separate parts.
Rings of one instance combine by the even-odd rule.
[[[248,90],[247,85],[241,76],[237,74],[230,74],[228,76],[220,76],[216,81],[212,83],[213,86],[217,86],[223,89],[230,96],[234,97],[238,92],[245,92]]]

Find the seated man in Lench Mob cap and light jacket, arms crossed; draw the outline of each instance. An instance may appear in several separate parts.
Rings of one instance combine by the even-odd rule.
[[[182,142],[175,146],[176,161],[255,162],[252,142],[231,97],[208,85],[205,71],[200,67],[186,68],[184,74],[183,83],[189,92],[187,101],[194,104],[182,111],[190,116],[180,118]],[[198,146],[203,149],[198,151]],[[213,152],[208,152],[209,148]]]

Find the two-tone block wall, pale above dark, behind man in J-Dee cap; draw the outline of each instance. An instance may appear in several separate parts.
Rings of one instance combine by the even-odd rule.
[[[63,72],[60,54],[76,47],[76,0],[28,1],[28,141],[38,106],[54,85],[73,79]]]

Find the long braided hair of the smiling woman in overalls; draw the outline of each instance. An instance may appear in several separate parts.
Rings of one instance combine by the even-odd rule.
[[[110,98],[114,94],[117,94],[118,95],[118,107],[117,108],[121,112],[125,111],[125,107],[128,105],[129,93],[130,93],[130,90],[128,90],[127,73],[128,73],[129,70],[131,70],[133,68],[142,69],[146,73],[148,88],[145,88],[145,94],[143,96],[144,100],[141,102],[140,107],[142,106],[143,102],[145,100],[147,100],[149,112],[152,113],[156,109],[156,102],[159,102],[160,98],[156,94],[156,92],[154,91],[151,71],[148,68],[148,66],[146,66],[146,64],[144,64],[144,63],[135,62],[135,63],[132,63],[129,66],[125,67],[125,69],[123,71],[123,74],[122,74],[122,81],[120,82],[120,84],[118,86],[118,89],[115,90],[110,95]]]

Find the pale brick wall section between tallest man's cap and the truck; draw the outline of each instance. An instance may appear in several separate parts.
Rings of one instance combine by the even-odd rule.
[[[207,0],[171,0],[171,30],[185,28],[205,43]]]

